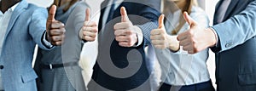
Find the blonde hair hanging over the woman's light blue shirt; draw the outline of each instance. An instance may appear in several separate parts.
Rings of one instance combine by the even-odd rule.
[[[181,9],[181,11],[182,11],[182,14],[180,14],[180,19],[179,19],[179,24],[178,24],[178,26],[177,27],[175,27],[173,30],[172,30],[172,32],[171,32],[171,34],[172,35],[177,35],[177,32],[183,27],[183,25],[186,23],[186,21],[183,19],[183,12],[188,12],[188,14],[190,14],[191,13],[191,10],[192,10],[192,7],[193,6],[197,6],[197,2],[196,2],[196,0],[185,0],[185,2],[184,2],[185,4],[184,4],[184,6],[183,6],[183,8],[180,8]],[[168,12],[170,12],[170,11],[168,11],[169,9],[170,9],[170,3],[168,3],[168,0],[164,0],[164,10],[163,10],[163,13],[164,14],[167,14]]]

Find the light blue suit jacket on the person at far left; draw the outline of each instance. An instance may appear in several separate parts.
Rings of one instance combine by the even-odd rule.
[[[0,65],[6,91],[36,91],[36,75],[32,69],[35,45],[42,43],[47,10],[22,0],[15,8],[3,41]]]

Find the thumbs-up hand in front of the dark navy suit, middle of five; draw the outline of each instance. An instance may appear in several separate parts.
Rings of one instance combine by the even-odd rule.
[[[115,40],[119,42],[119,46],[132,47],[138,42],[137,32],[133,29],[133,25],[128,18],[125,7],[120,9],[121,22],[113,26]]]

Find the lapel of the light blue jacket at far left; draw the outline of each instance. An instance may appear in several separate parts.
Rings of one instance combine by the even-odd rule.
[[[7,27],[5,37],[8,37],[9,31],[11,31],[12,27],[15,25],[15,21],[18,19],[20,14],[27,8],[28,3],[25,0],[22,0],[19,5],[13,11],[13,14],[9,20],[9,25]]]

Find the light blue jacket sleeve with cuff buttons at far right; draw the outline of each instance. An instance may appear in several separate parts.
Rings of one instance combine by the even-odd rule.
[[[256,1],[247,8],[212,28],[218,34],[218,46],[215,52],[222,52],[245,43],[256,36]]]

